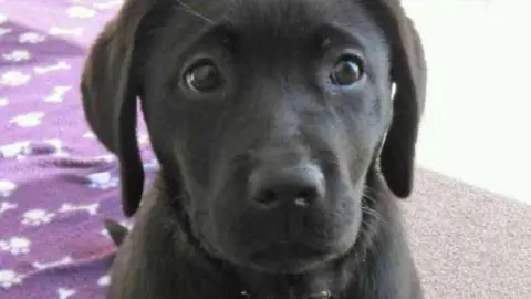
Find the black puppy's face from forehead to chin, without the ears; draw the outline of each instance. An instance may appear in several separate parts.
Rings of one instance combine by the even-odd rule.
[[[160,14],[142,58],[143,107],[210,254],[296,272],[356,241],[392,121],[389,49],[368,16],[341,0],[201,1]]]

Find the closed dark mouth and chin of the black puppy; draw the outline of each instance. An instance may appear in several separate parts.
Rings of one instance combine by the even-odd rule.
[[[304,271],[331,258],[331,252],[298,241],[274,241],[249,256],[250,264],[262,271]]]

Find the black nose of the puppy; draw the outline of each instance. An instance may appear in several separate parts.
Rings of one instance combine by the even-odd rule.
[[[325,193],[323,172],[313,164],[258,168],[249,183],[251,200],[262,208],[280,205],[306,207],[321,200]]]

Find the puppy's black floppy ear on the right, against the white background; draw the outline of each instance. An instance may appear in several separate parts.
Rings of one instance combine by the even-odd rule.
[[[395,196],[413,189],[415,146],[426,101],[427,70],[418,31],[399,0],[365,0],[391,44],[391,79],[396,84],[393,122],[379,156],[382,174]]]

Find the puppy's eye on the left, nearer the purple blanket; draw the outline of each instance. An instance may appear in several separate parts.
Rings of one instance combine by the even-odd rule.
[[[223,84],[223,79],[212,62],[202,61],[186,71],[185,82],[195,92],[208,93],[219,89]]]

